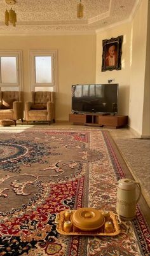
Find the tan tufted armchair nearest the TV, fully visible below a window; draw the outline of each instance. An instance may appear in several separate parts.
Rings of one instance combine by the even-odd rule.
[[[55,122],[55,92],[31,92],[32,102],[25,103],[25,120]]]

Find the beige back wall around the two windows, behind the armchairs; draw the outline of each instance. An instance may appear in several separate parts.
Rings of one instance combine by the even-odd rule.
[[[95,44],[95,35],[0,37],[1,50],[23,51],[24,101],[30,99],[29,50],[58,50],[56,120],[69,120],[72,84],[95,83]]]

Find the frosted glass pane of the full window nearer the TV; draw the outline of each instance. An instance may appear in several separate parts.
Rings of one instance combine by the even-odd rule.
[[[36,83],[51,83],[51,56],[36,56]]]

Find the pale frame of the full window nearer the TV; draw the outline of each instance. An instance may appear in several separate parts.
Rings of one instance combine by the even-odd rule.
[[[35,87],[53,88],[57,92],[57,50],[30,50],[30,88]],[[36,62],[35,57],[51,57],[51,83],[36,83]]]

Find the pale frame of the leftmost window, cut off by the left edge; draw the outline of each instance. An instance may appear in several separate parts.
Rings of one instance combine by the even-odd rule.
[[[1,82],[1,59],[0,59],[0,89],[1,87],[17,87],[18,90],[23,90],[23,61],[22,50],[0,50],[1,57],[16,57],[17,68],[17,83],[2,83]]]

